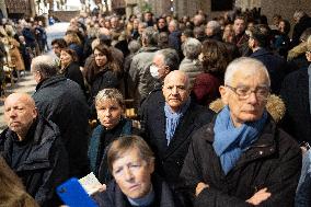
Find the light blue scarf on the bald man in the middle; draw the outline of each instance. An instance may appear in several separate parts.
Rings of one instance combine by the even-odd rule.
[[[165,102],[164,113],[166,117],[165,135],[166,135],[168,146],[170,145],[175,134],[175,130],[180,124],[181,118],[183,117],[189,105],[191,105],[191,99],[186,101],[186,103],[181,107],[178,112],[174,113],[171,106]]]

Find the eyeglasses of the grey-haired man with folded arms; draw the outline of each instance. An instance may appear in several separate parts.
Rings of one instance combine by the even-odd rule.
[[[255,90],[252,90],[249,87],[233,88],[228,84],[226,87],[232,90],[241,100],[246,100],[253,92],[255,93],[257,99],[266,100],[270,93],[270,89],[268,87],[257,87]]]

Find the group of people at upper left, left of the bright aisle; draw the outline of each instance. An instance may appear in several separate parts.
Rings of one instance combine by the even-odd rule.
[[[16,82],[20,74],[31,70],[31,61],[49,49],[42,21],[34,19],[0,20],[0,84],[4,94],[7,79]],[[10,74],[10,77],[5,76]]]

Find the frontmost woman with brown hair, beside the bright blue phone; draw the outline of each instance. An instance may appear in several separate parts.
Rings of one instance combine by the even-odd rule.
[[[99,206],[174,207],[168,184],[154,171],[154,156],[147,142],[138,136],[115,140],[107,153],[114,181],[103,193],[93,196]]]

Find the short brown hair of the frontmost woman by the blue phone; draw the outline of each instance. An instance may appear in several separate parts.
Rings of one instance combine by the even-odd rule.
[[[113,163],[131,149],[137,149],[139,157],[147,163],[154,161],[152,150],[141,137],[135,135],[119,137],[111,143],[107,153],[107,163],[111,173],[113,173]]]

